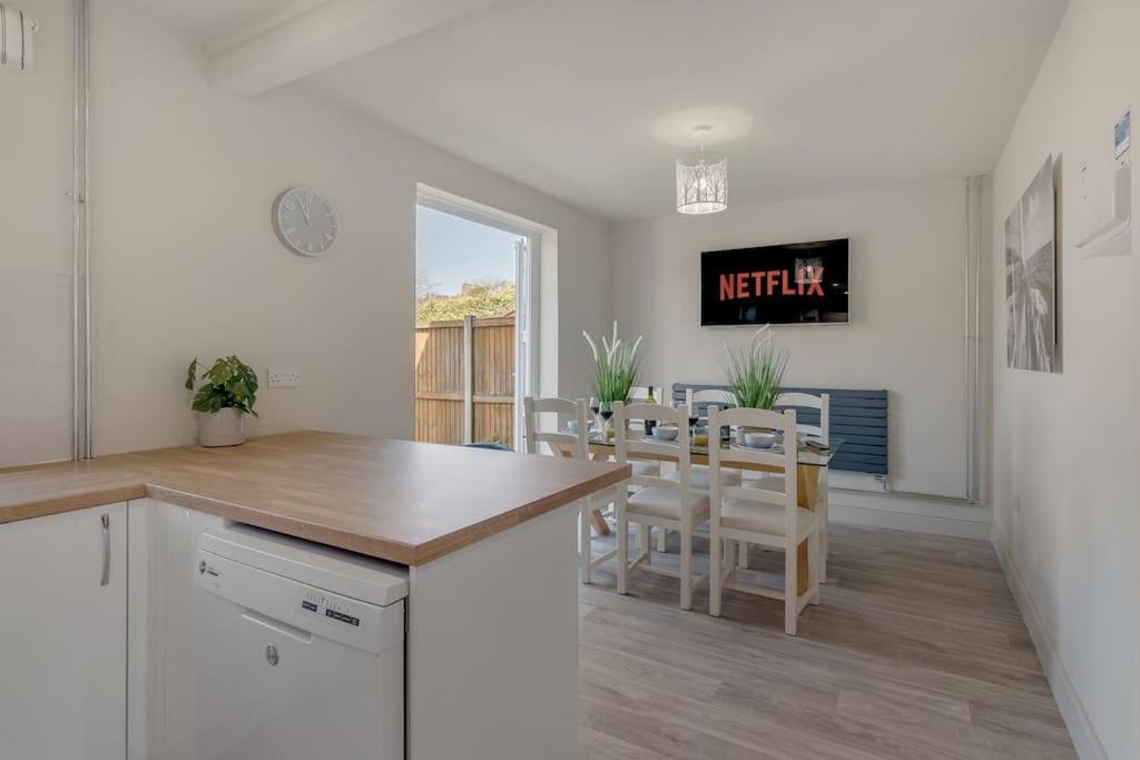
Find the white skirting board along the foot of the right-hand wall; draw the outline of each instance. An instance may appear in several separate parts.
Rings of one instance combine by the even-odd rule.
[[[1097,729],[1089,719],[1084,703],[1081,702],[1081,696],[1076,693],[1068,671],[1065,670],[1065,663],[1061,662],[1057,647],[1053,646],[1053,641],[1045,630],[1041,614],[1037,612],[1037,605],[1033,603],[1033,597],[1029,596],[1028,589],[1021,581],[1017,564],[1010,556],[1005,539],[996,525],[993,529],[992,541],[994,550],[997,553],[997,561],[1001,563],[1002,570],[1005,571],[1009,590],[1013,594],[1013,600],[1021,613],[1025,627],[1029,629],[1029,638],[1033,639],[1037,659],[1041,660],[1045,678],[1049,679],[1053,698],[1057,700],[1057,706],[1061,711],[1061,718],[1065,719],[1065,726],[1068,728],[1069,737],[1076,747],[1077,757],[1081,760],[1108,760],[1108,753],[1105,752],[1105,746],[1097,736]]]

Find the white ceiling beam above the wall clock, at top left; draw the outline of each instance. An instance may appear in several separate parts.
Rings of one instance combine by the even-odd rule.
[[[331,0],[210,51],[210,81],[252,97],[499,0]]]

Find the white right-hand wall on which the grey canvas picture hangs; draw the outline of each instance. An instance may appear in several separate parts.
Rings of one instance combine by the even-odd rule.
[[[1118,760],[1140,757],[1140,255],[1135,239],[1115,259],[1086,259],[1074,243],[1096,221],[1077,201],[1082,161],[1108,214],[1112,126],[1140,106],[1138,28],[1135,0],[1073,0],[993,185],[994,540],[1082,757]],[[1004,356],[1002,224],[1049,154],[1061,158],[1056,375],[1008,369]]]

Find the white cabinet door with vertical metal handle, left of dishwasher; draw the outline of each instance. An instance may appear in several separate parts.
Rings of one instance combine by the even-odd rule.
[[[125,504],[0,524],[0,754],[125,758]]]

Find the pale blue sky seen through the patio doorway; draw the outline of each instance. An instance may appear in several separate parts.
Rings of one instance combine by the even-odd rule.
[[[440,295],[454,295],[464,283],[514,280],[518,235],[416,206],[416,271],[425,272]]]

